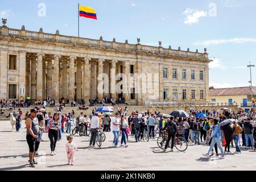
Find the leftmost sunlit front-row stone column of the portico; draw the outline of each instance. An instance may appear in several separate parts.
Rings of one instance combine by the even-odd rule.
[[[43,53],[38,53],[38,72],[36,74],[36,100],[43,101]]]

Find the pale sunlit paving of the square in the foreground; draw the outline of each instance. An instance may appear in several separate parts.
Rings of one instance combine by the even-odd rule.
[[[112,133],[105,133],[106,140],[101,149],[88,150],[89,137],[76,135],[74,141],[79,148],[75,154],[75,165],[67,165],[65,154],[65,139],[57,142],[57,155],[50,156],[48,134],[44,133],[45,142],[40,143],[39,152],[35,160],[39,163],[35,168],[28,167],[28,145],[26,129],[22,121],[19,133],[11,132],[10,121],[0,124],[0,170],[255,170],[256,152],[242,149],[241,155],[226,155],[225,159],[207,159],[203,153],[208,146],[194,146],[189,143],[185,152],[163,152],[156,140],[135,143],[134,137],[129,136],[129,147],[113,148]],[[119,138],[121,140],[121,137]],[[230,149],[232,152],[235,148]]]

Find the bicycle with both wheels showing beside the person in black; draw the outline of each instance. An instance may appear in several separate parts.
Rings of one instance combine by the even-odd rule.
[[[163,137],[159,136],[158,139],[156,140],[156,142],[158,143],[158,147],[161,148],[162,150],[164,150],[164,146],[166,145],[167,139],[168,133],[165,131]],[[174,146],[178,151],[184,152],[188,148],[188,142],[183,137],[177,137],[175,134]]]

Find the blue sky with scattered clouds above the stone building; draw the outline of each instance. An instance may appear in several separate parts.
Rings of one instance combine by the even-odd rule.
[[[46,6],[45,16],[42,6]],[[248,86],[249,61],[256,64],[256,1],[254,0],[23,0],[3,1],[0,18],[7,26],[77,36],[77,3],[96,10],[98,20],[80,18],[80,36],[117,42],[204,51],[210,64],[210,86]],[[40,6],[40,7],[39,7]],[[38,14],[39,13],[39,14]],[[256,68],[253,68],[256,85]]]

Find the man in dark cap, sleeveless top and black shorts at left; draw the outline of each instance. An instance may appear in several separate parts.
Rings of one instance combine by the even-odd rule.
[[[36,115],[38,114],[38,110],[31,109],[30,115],[26,119],[26,128],[27,128],[27,135],[26,140],[29,147],[29,162],[30,167],[35,167],[34,164],[37,164],[34,160],[35,157],[35,151],[38,150],[39,142],[37,142],[39,130],[42,130],[42,128],[39,126],[38,118]]]

